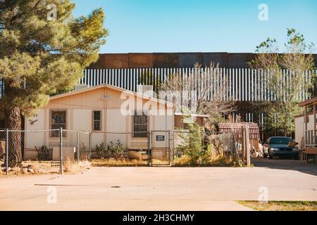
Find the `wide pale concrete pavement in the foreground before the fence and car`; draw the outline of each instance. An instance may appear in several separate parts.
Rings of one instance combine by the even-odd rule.
[[[251,168],[93,167],[75,175],[1,176],[0,210],[250,210],[235,200],[258,200],[263,188],[269,200],[317,200],[316,165],[252,163]]]

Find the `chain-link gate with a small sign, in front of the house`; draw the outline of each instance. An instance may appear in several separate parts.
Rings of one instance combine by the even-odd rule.
[[[173,165],[173,131],[149,131],[151,166]]]

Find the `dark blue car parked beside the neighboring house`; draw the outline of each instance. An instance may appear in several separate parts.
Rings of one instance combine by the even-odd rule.
[[[287,157],[294,160],[299,159],[297,146],[292,147],[292,138],[285,136],[271,136],[263,144],[263,157],[273,159],[275,157]],[[297,145],[298,143],[295,143]]]

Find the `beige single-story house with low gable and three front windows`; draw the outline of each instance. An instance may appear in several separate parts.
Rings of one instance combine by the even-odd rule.
[[[174,107],[173,103],[108,84],[51,96],[48,105],[25,118],[25,130],[35,131],[25,133],[25,160],[32,160],[35,146],[43,145],[54,148],[56,160],[58,131],[41,130],[60,127],[70,130],[63,133],[63,149],[70,152],[70,158],[76,147],[76,134],[71,130],[92,131],[92,148],[119,140],[125,149],[142,149],[147,148],[147,131],[174,129]],[[87,146],[88,139],[88,134],[81,133],[80,145]]]

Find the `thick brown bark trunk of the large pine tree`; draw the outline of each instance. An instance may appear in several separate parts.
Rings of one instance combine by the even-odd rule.
[[[8,135],[8,166],[20,167],[22,165],[20,108],[13,107],[6,114],[6,127],[9,130],[18,130],[11,131]]]

